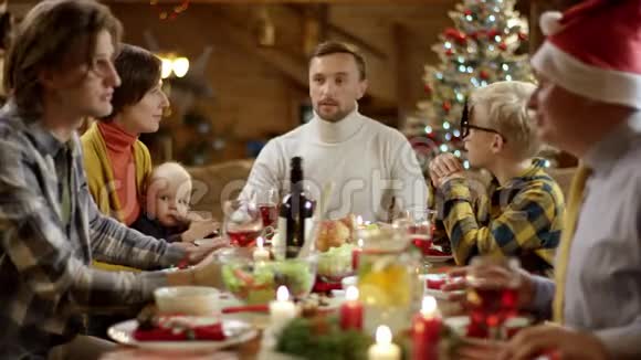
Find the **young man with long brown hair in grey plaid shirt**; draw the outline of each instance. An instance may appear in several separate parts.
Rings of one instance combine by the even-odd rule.
[[[75,133],[112,109],[120,24],[88,0],[48,0],[24,18],[6,62],[0,112],[0,358],[97,357],[107,341],[77,336],[88,311],[135,308],[164,285],[217,285],[209,260],[189,271],[111,273],[204,257],[102,215],[87,190]],[[52,351],[52,349],[56,349]]]

